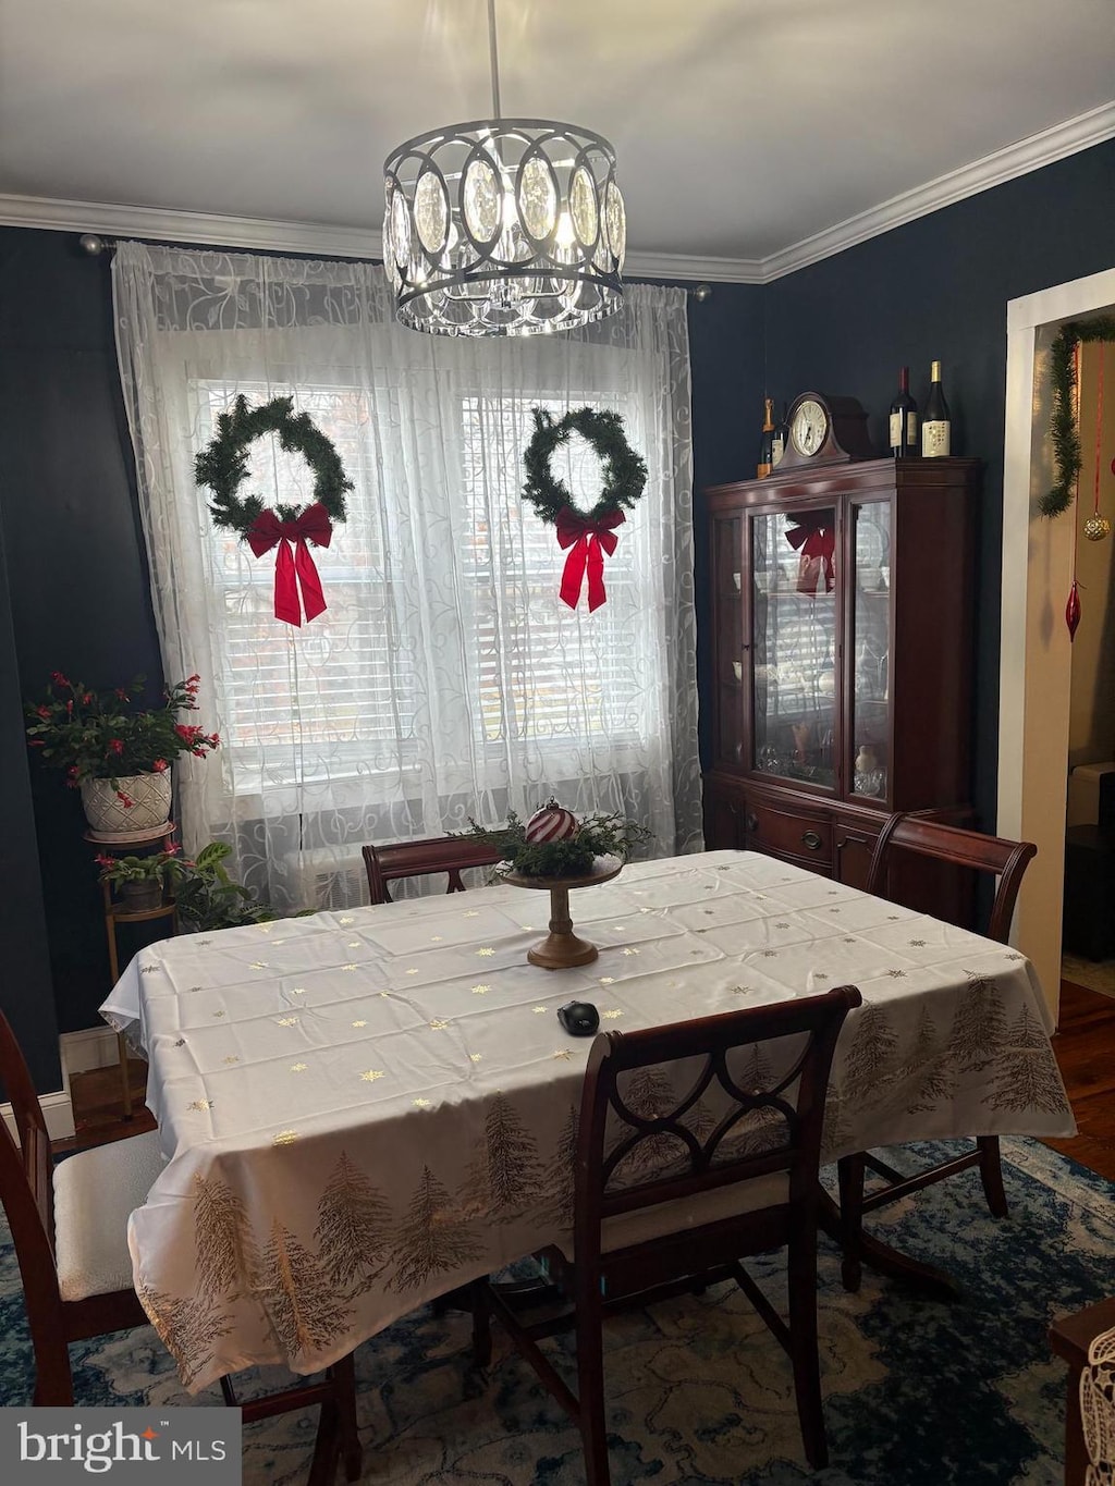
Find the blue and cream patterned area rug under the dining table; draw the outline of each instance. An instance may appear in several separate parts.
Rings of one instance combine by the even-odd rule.
[[[947,1269],[963,1285],[954,1303],[870,1272],[849,1296],[837,1251],[822,1239],[825,1471],[804,1464],[789,1366],[734,1287],[611,1323],[614,1486],[1059,1486],[1064,1367],[1045,1333],[1054,1317],[1115,1290],[1115,1187],[1036,1141],[1003,1141],[1003,1155],[1006,1221],[987,1216],[978,1177],[965,1172],[873,1224]],[[780,1262],[752,1272],[782,1308]],[[0,1326],[0,1404],[25,1403],[31,1357],[6,1229]],[[364,1479],[580,1486],[578,1437],[526,1363],[497,1327],[494,1366],[482,1378],[468,1343],[467,1317],[434,1318],[424,1308],[358,1349]],[[73,1357],[79,1403],[190,1401],[150,1328],[82,1343]],[[207,1389],[196,1401],[220,1403],[220,1394]],[[305,1482],[315,1427],[311,1410],[245,1430],[245,1483]]]

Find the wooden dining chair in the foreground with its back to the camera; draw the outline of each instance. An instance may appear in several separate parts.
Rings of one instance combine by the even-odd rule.
[[[828,1461],[816,1334],[816,1233],[821,1125],[833,1051],[859,991],[705,1016],[633,1033],[601,1033],[581,1092],[574,1172],[572,1257],[540,1259],[565,1302],[531,1321],[498,1282],[480,1281],[474,1342],[491,1354],[489,1317],[581,1431],[589,1486],[608,1486],[602,1321],[666,1296],[734,1279],[789,1354],[806,1456]],[[688,1068],[678,1068],[694,1060]],[[685,1086],[653,1116],[632,1074],[676,1070]],[[645,1086],[645,1076],[642,1079]],[[666,1085],[669,1086],[669,1085]],[[633,1107],[635,1106],[635,1107]],[[639,1112],[642,1109],[642,1113]],[[740,1265],[788,1250],[789,1323]],[[514,1287],[516,1290],[519,1287]],[[538,1342],[577,1334],[577,1394]]]

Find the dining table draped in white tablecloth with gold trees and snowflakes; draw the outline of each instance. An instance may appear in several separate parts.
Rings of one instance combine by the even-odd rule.
[[[422,1302],[568,1241],[590,1002],[630,1031],[852,984],[822,1159],[1070,1135],[1053,1019],[1009,945],[752,851],[632,862],[572,895],[592,963],[528,951],[511,883],[140,950],[101,1006],[147,1058],[164,1168],[137,1293],[196,1392],[311,1373]],[[653,1085],[647,1112],[653,1116]]]

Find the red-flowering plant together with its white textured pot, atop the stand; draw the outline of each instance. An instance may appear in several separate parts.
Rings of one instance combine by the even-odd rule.
[[[80,789],[94,835],[131,835],[167,823],[172,759],[204,758],[220,743],[217,733],[180,721],[183,712],[198,710],[199,679],[168,687],[162,704],[150,707],[143,704],[143,676],[95,692],[56,670],[46,697],[25,704],[28,744]]]

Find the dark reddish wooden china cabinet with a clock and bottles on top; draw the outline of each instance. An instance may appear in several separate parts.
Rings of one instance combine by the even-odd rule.
[[[891,811],[971,822],[978,487],[975,459],[865,459],[705,492],[709,850],[862,887]]]

